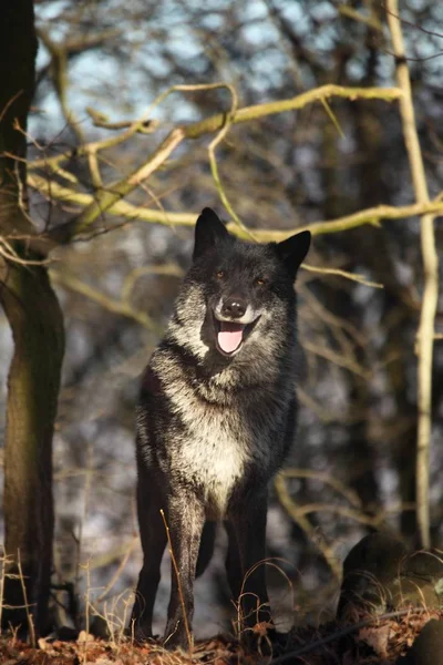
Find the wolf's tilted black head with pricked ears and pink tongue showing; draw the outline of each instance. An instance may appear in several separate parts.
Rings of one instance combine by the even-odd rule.
[[[309,232],[278,244],[239,241],[205,208],[196,224],[193,265],[177,300],[181,341],[200,358],[209,352],[229,359],[244,355],[246,347],[253,351],[271,344],[276,330],[282,339],[293,328],[293,282],[309,245]]]

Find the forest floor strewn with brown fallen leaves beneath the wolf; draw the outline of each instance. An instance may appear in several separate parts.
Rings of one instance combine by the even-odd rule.
[[[153,642],[143,646],[130,640],[99,640],[81,632],[75,641],[41,638],[37,646],[13,637],[0,637],[1,665],[393,665],[403,658],[430,620],[443,620],[443,611],[411,608],[353,625],[336,622],[292,631],[285,649],[271,655],[247,654],[238,642],[225,636],[197,641],[192,656],[167,652]],[[441,625],[441,624],[440,624]],[[266,638],[262,640],[264,651]],[[299,657],[298,657],[299,656]],[[440,663],[436,658],[435,662]],[[404,661],[406,663],[406,661]]]

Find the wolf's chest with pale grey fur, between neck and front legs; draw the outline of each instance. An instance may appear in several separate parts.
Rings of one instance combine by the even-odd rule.
[[[205,379],[179,360],[168,348],[152,357],[154,402],[142,402],[137,419],[142,459],[175,488],[195,490],[208,515],[223,518],[237,487],[254,477],[265,489],[282,463],[293,388],[289,377],[282,389],[268,376],[239,389],[230,370]]]

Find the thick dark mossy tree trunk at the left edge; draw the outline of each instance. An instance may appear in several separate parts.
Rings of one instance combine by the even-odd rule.
[[[0,6],[0,303],[14,351],[4,440],[7,577],[3,625],[47,627],[52,565],[52,436],[63,359],[63,318],[43,265],[31,249],[27,212],[27,117],[34,85],[32,0]],[[8,256],[6,256],[8,254]],[[22,572],[22,580],[13,576]],[[23,594],[23,585],[25,594]],[[28,603],[28,607],[23,607]],[[11,607],[10,607],[11,606]],[[17,608],[13,608],[17,607]]]

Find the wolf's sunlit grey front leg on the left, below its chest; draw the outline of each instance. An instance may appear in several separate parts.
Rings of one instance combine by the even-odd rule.
[[[189,649],[194,614],[194,581],[198,549],[205,523],[205,509],[190,492],[168,499],[169,533],[173,549],[171,600],[164,645]],[[178,574],[177,574],[178,572]]]

